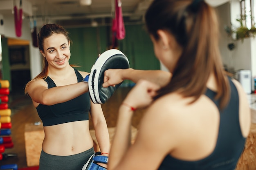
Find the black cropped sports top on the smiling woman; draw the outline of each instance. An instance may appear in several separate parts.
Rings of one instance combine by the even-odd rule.
[[[77,82],[83,80],[82,75],[74,68]],[[56,87],[54,81],[48,76],[45,79],[48,88]],[[84,93],[70,101],[54,104],[51,106],[39,104],[36,107],[37,113],[43,121],[43,126],[52,126],[72,121],[89,120],[91,107],[89,93]]]

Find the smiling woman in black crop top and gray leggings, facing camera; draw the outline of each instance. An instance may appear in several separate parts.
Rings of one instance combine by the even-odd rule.
[[[43,55],[43,71],[25,88],[44,126],[39,170],[82,169],[94,154],[89,113],[101,152],[109,152],[108,129],[101,105],[91,102],[88,83],[83,82],[89,73],[69,64],[68,34],[58,24],[41,28],[38,48]]]

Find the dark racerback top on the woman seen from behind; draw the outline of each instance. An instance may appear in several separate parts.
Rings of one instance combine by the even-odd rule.
[[[220,110],[215,92],[207,89],[205,95],[219,108],[220,126],[216,147],[208,157],[199,161],[183,161],[167,155],[158,170],[234,170],[243,152],[246,138],[239,124],[239,98],[234,83],[229,79],[231,97],[229,104]],[[189,142],[189,141],[188,141]]]

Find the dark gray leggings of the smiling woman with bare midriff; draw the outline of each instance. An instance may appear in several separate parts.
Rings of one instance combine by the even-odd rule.
[[[39,170],[82,170],[85,162],[94,154],[94,148],[70,156],[40,155]]]

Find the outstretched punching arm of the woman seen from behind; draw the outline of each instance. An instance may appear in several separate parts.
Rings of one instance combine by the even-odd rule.
[[[108,69],[104,73],[103,87],[113,86],[119,84],[125,79],[137,83],[139,79],[145,79],[160,87],[165,86],[170,82],[172,74],[170,72],[161,70],[135,70],[128,69]]]

